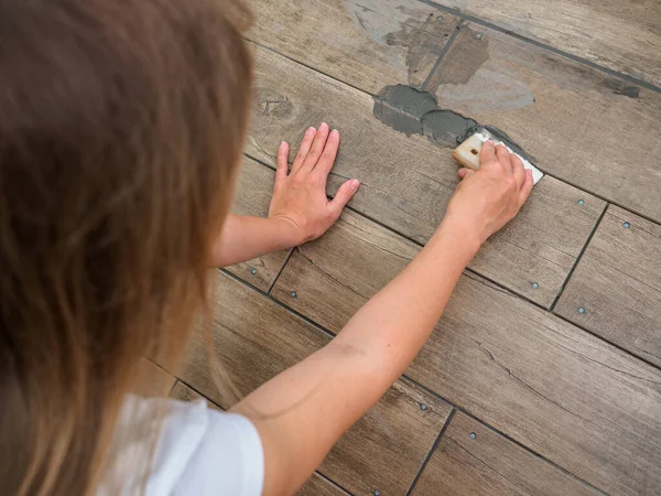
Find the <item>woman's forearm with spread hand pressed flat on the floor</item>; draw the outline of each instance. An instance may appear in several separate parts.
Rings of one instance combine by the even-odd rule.
[[[214,247],[213,265],[226,267],[292,248],[322,236],[338,219],[358,188],[343,184],[335,198],[326,197],[326,180],[339,148],[339,133],[326,123],[310,128],[289,171],[289,144],[278,150],[278,169],[269,217],[229,215]]]

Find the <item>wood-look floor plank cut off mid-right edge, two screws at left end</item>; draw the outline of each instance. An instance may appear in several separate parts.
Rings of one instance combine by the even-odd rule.
[[[661,226],[609,206],[555,312],[661,367]]]

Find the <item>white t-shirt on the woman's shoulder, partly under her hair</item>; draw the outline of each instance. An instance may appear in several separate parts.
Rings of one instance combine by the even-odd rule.
[[[246,417],[216,411],[204,400],[131,396],[97,495],[141,494],[144,486],[149,496],[260,496],[263,479],[261,440]]]

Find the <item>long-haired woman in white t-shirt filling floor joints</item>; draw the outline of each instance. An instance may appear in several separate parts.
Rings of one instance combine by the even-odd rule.
[[[427,246],[325,348],[229,413],[129,396],[142,356],[178,357],[210,267],[321,236],[358,187],[326,200],[339,134],[322,125],[291,170],[281,145],[268,219],[228,215],[246,18],[236,0],[0,0],[3,494],[294,493],[530,194],[487,143]]]

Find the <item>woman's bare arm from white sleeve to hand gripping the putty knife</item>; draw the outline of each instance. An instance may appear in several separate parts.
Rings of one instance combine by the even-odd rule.
[[[486,143],[478,172],[462,170],[438,230],[419,256],[327,346],[283,371],[232,411],[250,418],[264,449],[264,495],[290,495],[337,439],[399,378],[429,338],[480,245],[521,208],[532,175]]]

